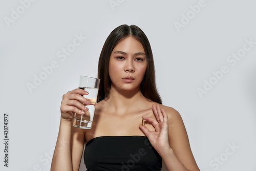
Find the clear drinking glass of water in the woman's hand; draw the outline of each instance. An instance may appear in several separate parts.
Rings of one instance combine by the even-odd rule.
[[[83,95],[83,97],[90,100],[91,104],[87,105],[89,110],[84,111],[85,114],[79,115],[75,113],[73,126],[79,127],[80,129],[91,129],[99,90],[99,81],[100,79],[98,78],[80,76],[79,89],[89,93],[88,95]]]

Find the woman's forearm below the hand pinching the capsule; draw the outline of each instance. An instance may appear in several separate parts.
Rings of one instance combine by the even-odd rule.
[[[189,171],[177,158],[172,148],[164,150],[159,155],[162,157],[168,171]]]

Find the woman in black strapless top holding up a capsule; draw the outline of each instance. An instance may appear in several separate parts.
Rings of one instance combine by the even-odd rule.
[[[63,95],[51,170],[199,170],[180,114],[162,105],[155,86],[150,43],[137,26],[121,25],[102,48],[100,88],[92,129],[72,126],[74,113],[90,104],[75,89]],[[84,105],[82,104],[84,103]],[[144,119],[145,125],[141,124]]]

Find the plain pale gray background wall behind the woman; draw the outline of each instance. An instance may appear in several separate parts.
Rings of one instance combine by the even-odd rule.
[[[1,170],[50,169],[62,95],[77,88],[79,75],[97,76],[101,48],[114,28],[134,24],[151,42],[163,104],[181,114],[200,169],[255,171],[255,5],[249,0],[1,1],[0,137],[8,113],[10,139],[9,167],[1,157]],[[59,58],[62,48],[72,48],[75,35],[87,38],[66,59]],[[245,45],[246,39],[254,44]],[[241,59],[228,62],[232,53]],[[53,61],[57,67],[44,75],[42,67]],[[228,72],[214,78],[223,66]],[[45,79],[29,91],[27,84],[40,74]],[[205,81],[214,85],[200,97]]]

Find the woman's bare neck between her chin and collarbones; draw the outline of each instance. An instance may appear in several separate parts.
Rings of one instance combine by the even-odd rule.
[[[140,109],[145,101],[147,101],[147,98],[142,95],[140,88],[126,91],[111,87],[108,98],[110,108],[119,115]]]

